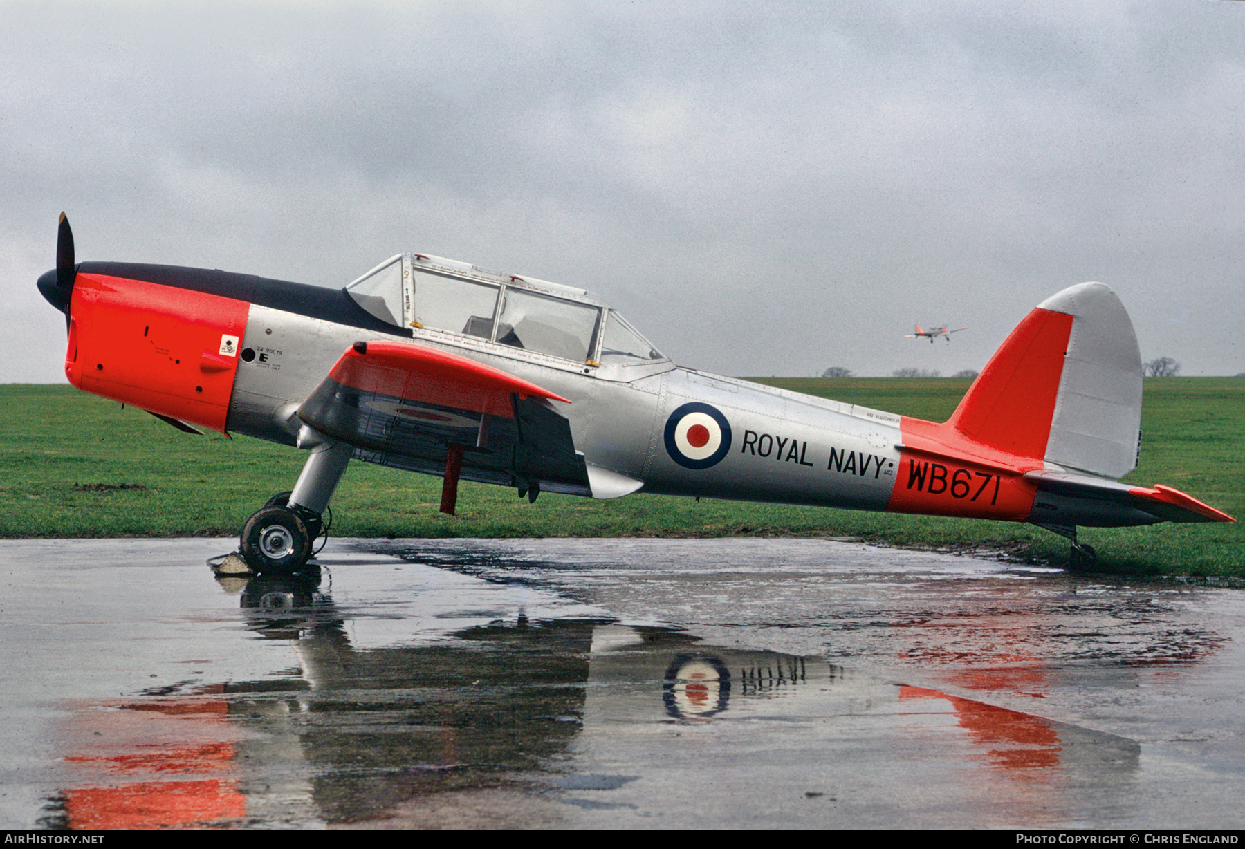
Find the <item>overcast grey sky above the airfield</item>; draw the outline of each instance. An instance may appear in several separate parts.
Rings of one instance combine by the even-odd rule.
[[[1099,280],[1234,375],[1245,2],[0,0],[0,382],[63,380],[62,209],[80,261],[585,286],[742,376],[981,368]]]

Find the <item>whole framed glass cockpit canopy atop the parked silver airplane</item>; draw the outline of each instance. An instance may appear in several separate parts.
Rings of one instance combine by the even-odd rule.
[[[665,359],[622,316],[583,289],[439,256],[398,254],[351,283],[346,293],[398,327],[476,336],[575,364]]]

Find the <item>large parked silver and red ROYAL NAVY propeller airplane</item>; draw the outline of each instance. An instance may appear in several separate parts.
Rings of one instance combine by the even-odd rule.
[[[1142,362],[1101,283],[1037,305],[935,423],[676,366],[584,289],[398,254],[341,289],[76,263],[61,214],[39,289],[80,390],[192,433],[296,446],[289,492],[243,524],[258,573],[299,571],[351,459],[599,499],[659,493],[1078,527],[1235,522],[1137,466]]]

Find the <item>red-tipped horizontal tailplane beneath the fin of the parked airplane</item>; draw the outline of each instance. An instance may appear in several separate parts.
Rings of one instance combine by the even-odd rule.
[[[1033,471],[1025,478],[1037,484],[1030,522],[1056,525],[1125,525],[1157,522],[1235,522],[1179,489],[1153,489],[1103,478],[1063,472]]]

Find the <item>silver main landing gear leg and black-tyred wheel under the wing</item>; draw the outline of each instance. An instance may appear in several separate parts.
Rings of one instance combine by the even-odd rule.
[[[325,528],[324,512],[354,453],[351,446],[306,424],[298,442],[311,456],[294,489],[269,498],[242,528],[243,559],[261,574],[289,575],[306,565]]]

